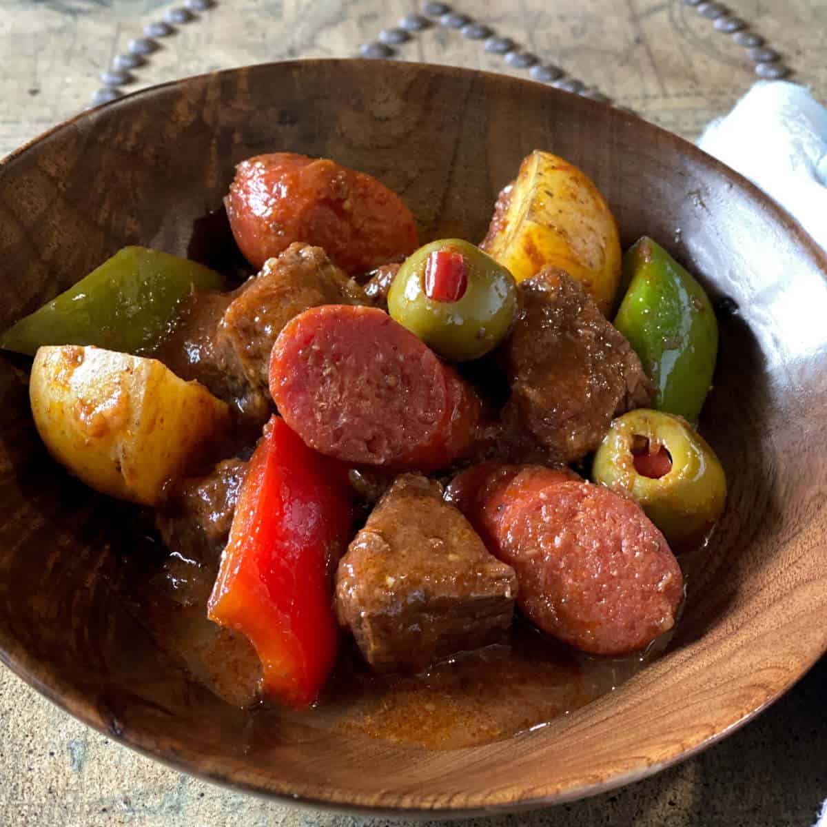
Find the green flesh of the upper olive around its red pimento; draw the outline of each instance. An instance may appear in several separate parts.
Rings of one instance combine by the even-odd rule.
[[[467,283],[456,300],[426,293],[428,258],[445,251],[460,254],[464,262]],[[493,350],[508,335],[517,306],[517,284],[509,270],[458,238],[420,247],[399,268],[388,293],[390,315],[450,361],[478,359]]]

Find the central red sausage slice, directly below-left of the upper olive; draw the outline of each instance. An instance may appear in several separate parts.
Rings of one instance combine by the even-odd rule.
[[[270,359],[288,425],[328,457],[394,470],[447,466],[471,446],[476,394],[376,308],[328,304],[293,318]]]

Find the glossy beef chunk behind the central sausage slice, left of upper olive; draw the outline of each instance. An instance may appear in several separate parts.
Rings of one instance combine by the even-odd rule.
[[[270,351],[281,328],[320,304],[370,302],[355,281],[332,265],[321,247],[299,242],[265,261],[261,273],[233,299],[222,318],[222,337],[253,385],[268,389]]]

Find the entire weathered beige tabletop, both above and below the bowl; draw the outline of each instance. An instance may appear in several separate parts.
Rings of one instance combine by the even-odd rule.
[[[205,5],[189,0],[190,7]],[[206,3],[208,5],[208,3]],[[351,56],[423,4],[404,0],[218,0],[174,24],[127,79],[127,93],[188,74],[303,56]],[[490,26],[672,131],[693,140],[755,79],[757,62],[827,99],[827,0],[734,0],[724,16],[686,0],[460,0],[455,11]],[[92,103],[100,73],[144,26],[173,10],[163,0],[5,0],[0,16],[0,155]],[[174,14],[173,14],[174,17]],[[752,38],[754,39],[754,38]],[[483,41],[431,26],[394,57],[527,77]],[[769,49],[769,60],[749,48]],[[535,69],[535,74],[538,70]],[[547,77],[557,74],[549,69]],[[771,709],[728,739],[665,772],[587,801],[519,816],[526,825],[810,827],[827,797],[827,659]],[[51,705],[0,667],[0,825],[183,827],[337,825],[374,820],[301,810],[200,782],[143,758]],[[478,820],[485,827],[515,816]],[[378,825],[379,820],[375,820]],[[436,823],[436,822],[434,822]],[[827,818],[825,818],[827,824]]]

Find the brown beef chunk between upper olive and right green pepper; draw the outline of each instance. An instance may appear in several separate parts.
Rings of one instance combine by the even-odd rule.
[[[581,459],[612,418],[649,404],[649,381],[629,342],[564,270],[547,267],[519,289],[504,423],[530,433],[550,461]]]

